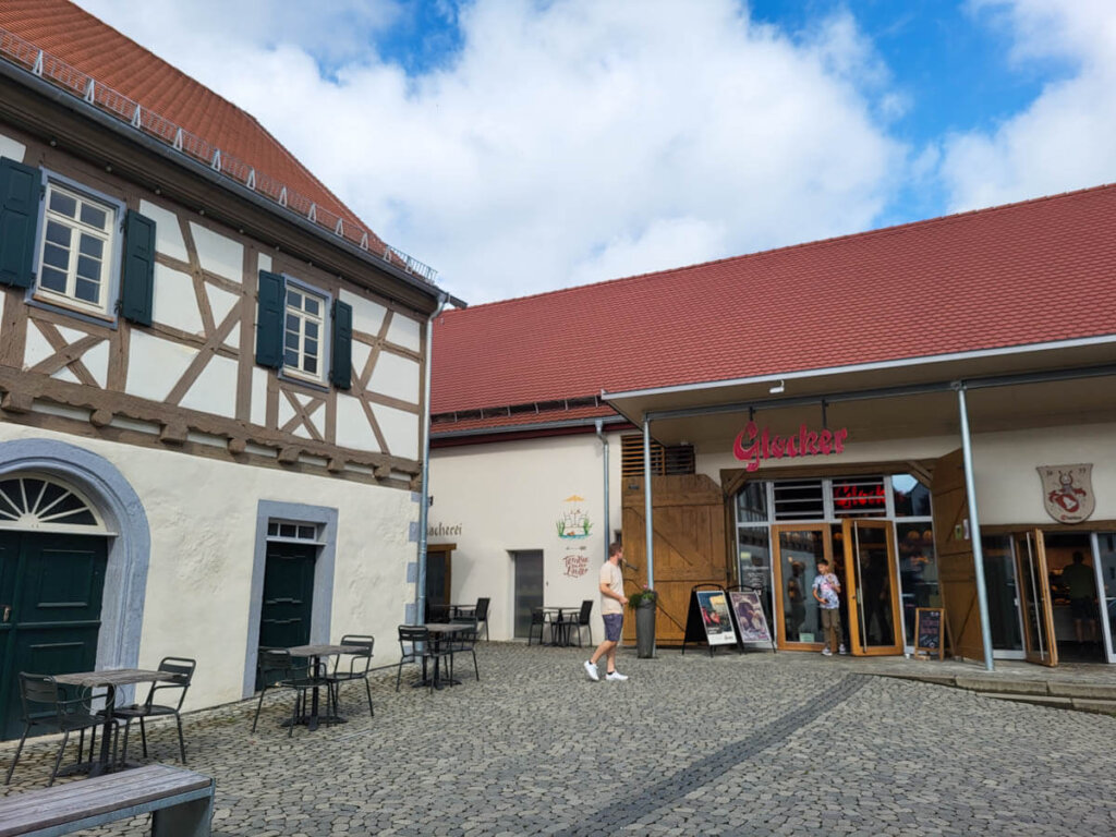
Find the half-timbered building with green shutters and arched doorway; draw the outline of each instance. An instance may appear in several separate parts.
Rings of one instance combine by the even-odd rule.
[[[393,636],[433,272],[62,0],[0,7],[0,737],[19,671],[193,657],[201,706]]]

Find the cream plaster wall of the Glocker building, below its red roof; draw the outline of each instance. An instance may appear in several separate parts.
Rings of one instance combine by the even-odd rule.
[[[608,435],[610,528],[620,529],[619,434]],[[855,463],[904,459],[934,459],[960,448],[956,436],[933,436],[886,442],[852,442],[835,456],[787,460],[787,465]],[[492,599],[493,638],[512,633],[513,567],[509,550],[541,549],[547,583],[546,604],[576,604],[593,598],[594,638],[600,636],[599,596],[594,570],[604,560],[600,444],[591,434],[434,449],[431,452],[430,525],[461,527],[460,533],[431,537],[431,543],[453,542],[453,599]],[[1116,424],[1087,424],[973,437],[977,498],[981,522],[991,525],[1056,526],[1042,506],[1036,469],[1039,465],[1091,462],[1096,520],[1116,519]],[[731,440],[723,450],[698,452],[698,472],[720,484],[721,469],[739,468]],[[778,466],[764,471],[777,477]],[[561,557],[569,541],[557,537],[555,521],[561,500],[577,493],[586,498],[594,533],[589,547],[590,573],[581,579],[562,575]]]

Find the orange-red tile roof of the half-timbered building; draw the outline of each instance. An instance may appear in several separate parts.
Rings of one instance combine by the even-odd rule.
[[[357,215],[251,115],[66,0],[3,0],[0,28],[30,41],[146,110],[177,124],[318,206],[367,230]],[[368,248],[384,252],[369,231]]]

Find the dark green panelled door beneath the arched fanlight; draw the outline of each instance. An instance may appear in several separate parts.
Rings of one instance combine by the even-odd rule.
[[[108,542],[0,531],[0,738],[19,738],[19,672],[96,667]]]

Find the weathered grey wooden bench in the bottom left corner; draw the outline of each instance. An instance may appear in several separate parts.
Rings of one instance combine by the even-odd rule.
[[[208,837],[214,782],[169,764],[148,764],[0,798],[0,837],[54,837],[152,815],[153,837]]]

